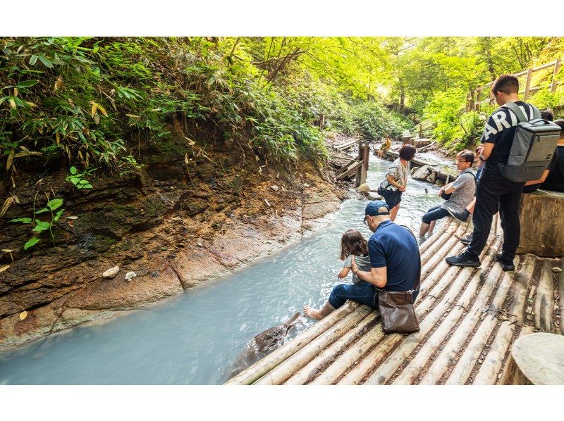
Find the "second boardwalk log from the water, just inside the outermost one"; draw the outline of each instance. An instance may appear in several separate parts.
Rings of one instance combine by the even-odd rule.
[[[356,325],[360,320],[364,319],[372,308],[368,306],[359,306],[354,311],[339,320],[335,325],[327,329],[313,339],[309,344],[302,347],[299,351],[293,353],[292,356],[284,360],[278,366],[267,372],[264,376],[255,382],[255,384],[281,384],[294,372],[309,363],[315,356],[318,356],[327,346],[333,344],[350,329],[351,325]],[[321,320],[323,321],[323,320]]]

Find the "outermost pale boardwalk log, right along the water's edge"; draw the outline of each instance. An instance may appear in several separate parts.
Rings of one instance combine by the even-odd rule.
[[[225,384],[251,384],[252,382],[255,382],[266,372],[269,372],[278,364],[282,363],[282,361],[286,360],[290,356],[293,356],[294,353],[309,344],[309,342],[314,338],[317,338],[331,326],[338,323],[358,306],[360,306],[359,303],[347,301],[344,306],[333,311],[333,313],[328,315],[326,318],[299,334],[295,337],[295,339],[287,342],[273,353],[262,358],[262,360],[257,361],[257,363],[251,365],[246,370],[243,370],[238,375],[228,380]]]

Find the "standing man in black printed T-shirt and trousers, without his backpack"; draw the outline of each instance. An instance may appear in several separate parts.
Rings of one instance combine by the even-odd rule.
[[[532,120],[535,113],[539,115],[540,112],[532,104],[520,101],[519,81],[513,75],[498,77],[491,87],[491,93],[500,108],[489,116],[482,134],[484,148],[480,159],[485,163],[477,187],[476,206],[472,217],[474,222],[472,241],[465,251],[458,256],[446,258],[446,262],[457,266],[479,266],[479,255],[486,246],[494,213],[499,209],[503,228],[503,247],[502,253],[498,253],[496,260],[501,263],[503,270],[515,270],[513,258],[519,246],[521,232],[519,201],[525,182],[508,180],[503,177],[499,167],[500,164],[508,163],[513,135],[519,122],[517,115],[504,105],[509,102],[515,103],[528,120]]]

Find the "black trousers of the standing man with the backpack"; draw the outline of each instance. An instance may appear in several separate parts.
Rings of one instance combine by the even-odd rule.
[[[499,209],[503,229],[502,258],[511,261],[519,246],[521,224],[519,222],[519,202],[524,182],[516,183],[502,177],[501,174],[482,177],[476,189],[474,206],[474,232],[472,242],[466,249],[474,257],[479,257],[491,230],[491,221]]]

